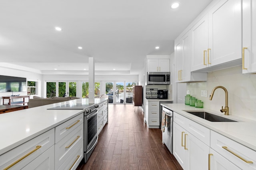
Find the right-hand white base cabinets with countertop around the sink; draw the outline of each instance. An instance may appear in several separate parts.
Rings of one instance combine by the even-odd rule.
[[[161,105],[173,111],[173,154],[184,170],[256,169],[255,121],[184,104]],[[204,111],[237,122],[211,122],[187,111]]]

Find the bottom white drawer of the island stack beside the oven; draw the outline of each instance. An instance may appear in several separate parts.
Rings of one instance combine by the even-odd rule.
[[[84,140],[82,140],[77,148],[74,149],[68,158],[63,162],[63,164],[58,168],[58,170],[75,170],[82,158],[84,157]],[[56,169],[57,170],[57,169]]]

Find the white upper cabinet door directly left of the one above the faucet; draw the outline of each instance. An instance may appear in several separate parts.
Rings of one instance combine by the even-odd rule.
[[[191,29],[192,61],[191,71],[208,67],[208,14],[199,20]]]

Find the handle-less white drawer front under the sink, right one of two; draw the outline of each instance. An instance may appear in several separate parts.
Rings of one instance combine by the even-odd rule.
[[[186,119],[186,130],[206,145],[210,146],[210,129],[199,125],[190,119]]]

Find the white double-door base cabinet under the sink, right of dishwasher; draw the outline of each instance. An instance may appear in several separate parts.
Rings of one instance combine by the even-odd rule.
[[[184,170],[208,169],[210,146],[205,142],[210,144],[208,128],[174,112],[173,154]]]

